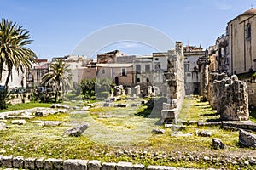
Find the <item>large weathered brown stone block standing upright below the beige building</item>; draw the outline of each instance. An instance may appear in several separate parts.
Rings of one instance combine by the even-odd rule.
[[[225,121],[246,121],[249,118],[247,84],[236,75],[213,82],[213,94],[217,96],[217,112]]]

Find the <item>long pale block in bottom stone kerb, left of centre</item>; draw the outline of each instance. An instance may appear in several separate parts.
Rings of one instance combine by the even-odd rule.
[[[64,161],[64,170],[87,170],[87,160],[68,159]]]

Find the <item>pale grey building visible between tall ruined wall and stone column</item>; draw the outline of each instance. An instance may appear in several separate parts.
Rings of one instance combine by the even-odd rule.
[[[197,60],[205,56],[206,51],[201,47],[186,46],[183,47],[184,54],[184,78],[185,94],[200,94],[200,72]]]

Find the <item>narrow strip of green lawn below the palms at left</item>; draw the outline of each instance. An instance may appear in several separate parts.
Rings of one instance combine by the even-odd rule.
[[[50,103],[39,103],[39,102],[29,102],[18,105],[8,105],[7,109],[0,110],[0,112],[4,111],[15,111],[15,110],[23,110],[23,109],[32,109],[34,107],[49,107]]]

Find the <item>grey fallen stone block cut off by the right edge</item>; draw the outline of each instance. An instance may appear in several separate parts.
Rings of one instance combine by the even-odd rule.
[[[256,148],[256,135],[253,133],[247,133],[244,130],[239,131],[239,142],[247,147]]]

